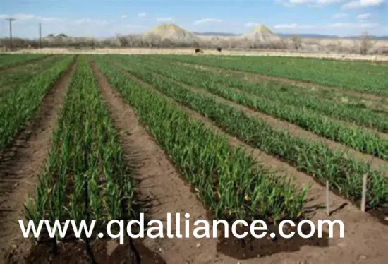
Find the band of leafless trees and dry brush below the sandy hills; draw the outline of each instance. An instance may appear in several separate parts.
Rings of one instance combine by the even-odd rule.
[[[37,49],[39,40],[13,38],[13,47],[16,49]],[[9,39],[0,38],[0,47],[8,47]],[[388,54],[388,47],[375,47],[376,40],[372,40],[365,33],[359,40],[353,40],[352,45],[344,45],[342,40],[322,44],[321,40],[303,40],[298,36],[260,42],[249,37],[198,37],[195,39],[162,40],[157,35],[117,35],[116,37],[97,39],[93,37],[68,37],[64,34],[49,35],[42,39],[42,47],[65,48],[120,48],[120,47],[147,47],[147,48],[178,48],[193,47],[201,49],[280,49],[298,50],[301,52],[335,52],[352,54]],[[5,47],[5,48],[4,48]]]

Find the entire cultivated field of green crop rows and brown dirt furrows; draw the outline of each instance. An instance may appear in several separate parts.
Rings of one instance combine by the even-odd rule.
[[[0,55],[0,201],[13,209],[0,214],[0,232],[12,241],[1,258],[136,263],[140,253],[150,263],[346,263],[362,252],[371,263],[387,259],[387,64],[30,55]],[[359,209],[365,174],[368,213]],[[107,253],[111,241],[97,234],[109,220],[138,220],[140,212],[164,223],[168,212],[189,212],[191,225],[261,219],[271,230],[284,219],[339,219],[346,247],[328,246],[344,243],[338,236],[302,244],[268,236],[245,246],[222,237],[126,239]],[[44,233],[32,245],[19,237],[20,214],[97,222],[92,239]]]

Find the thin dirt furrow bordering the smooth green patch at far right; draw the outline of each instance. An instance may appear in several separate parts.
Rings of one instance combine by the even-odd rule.
[[[370,94],[370,93],[364,93],[364,92],[356,92],[356,91],[352,91],[352,90],[344,90],[344,89],[341,89],[341,88],[338,88],[338,87],[333,87],[333,86],[326,86],[326,85],[319,85],[317,83],[313,83],[313,82],[306,82],[306,81],[303,81],[303,80],[292,80],[292,79],[289,79],[289,78],[285,78],[285,77],[275,77],[275,76],[267,76],[267,75],[264,75],[264,74],[260,74],[260,73],[249,73],[247,71],[238,71],[238,70],[231,70],[231,69],[227,69],[227,68],[219,68],[219,67],[216,67],[216,66],[207,66],[207,65],[198,65],[198,64],[188,64],[188,63],[183,63],[183,62],[178,62],[178,64],[182,64],[182,65],[186,65],[186,66],[190,66],[190,67],[197,67],[197,68],[200,68],[202,70],[206,70],[206,71],[213,71],[215,73],[226,73],[226,74],[230,74],[232,76],[241,76],[243,77],[245,80],[267,80],[267,81],[272,81],[272,82],[277,82],[277,83],[286,83],[286,84],[289,84],[289,85],[295,85],[295,86],[298,86],[298,87],[301,87],[301,88],[307,88],[307,89],[320,89],[320,90],[336,90],[336,91],[339,91],[341,93],[344,93],[345,95],[353,95],[353,96],[357,96],[357,97],[362,97],[363,99],[367,99],[367,100],[372,100],[372,101],[375,101],[375,102],[379,102],[379,103],[387,103],[388,102],[388,97],[382,97],[382,96],[379,96],[379,95],[374,95],[374,94]]]

